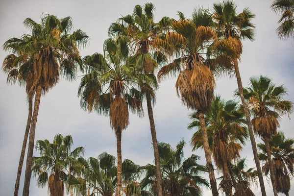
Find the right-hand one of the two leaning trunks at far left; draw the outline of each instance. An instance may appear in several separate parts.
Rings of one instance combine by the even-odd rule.
[[[36,96],[35,96],[33,117],[31,121],[31,127],[30,127],[29,139],[28,139],[28,149],[27,149],[26,168],[25,168],[25,184],[24,184],[23,196],[29,195],[29,184],[30,184],[30,178],[31,178],[32,162],[33,162],[35,131],[36,131],[36,123],[37,123],[37,117],[38,117],[38,112],[40,107],[41,94],[42,94],[42,86],[38,84],[37,90],[36,90]]]

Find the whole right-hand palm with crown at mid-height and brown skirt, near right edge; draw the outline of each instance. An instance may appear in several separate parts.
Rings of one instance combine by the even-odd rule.
[[[280,116],[293,112],[293,102],[284,100],[287,94],[284,85],[275,84],[266,76],[250,77],[250,86],[243,89],[244,97],[253,115],[251,121],[255,134],[264,139],[270,168],[270,179],[274,195],[277,195],[274,166],[271,161],[271,136],[277,133]],[[240,95],[237,92],[237,95]]]

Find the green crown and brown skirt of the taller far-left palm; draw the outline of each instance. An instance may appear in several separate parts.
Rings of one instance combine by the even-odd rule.
[[[24,25],[31,33],[21,39],[9,39],[3,49],[19,57],[13,63],[15,68],[20,67],[25,59],[33,59],[31,91],[41,84],[46,93],[59,81],[60,75],[75,79],[77,66],[81,63],[78,49],[87,45],[89,36],[80,29],[69,34],[73,29],[71,17],[58,19],[48,14],[41,17],[40,24],[27,18]]]

